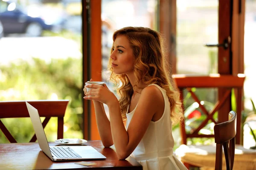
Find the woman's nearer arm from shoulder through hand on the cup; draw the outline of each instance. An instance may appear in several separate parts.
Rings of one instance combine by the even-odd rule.
[[[133,118],[126,131],[122,121],[118,99],[107,86],[104,85],[103,87],[101,85],[91,84],[86,85],[86,87],[93,88],[93,90],[90,90],[90,92],[84,96],[84,99],[97,100],[108,105],[111,135],[113,143],[115,144],[117,156],[119,159],[127,158],[143,138],[151,119],[157,112],[157,107],[163,104],[164,99],[161,91],[154,85],[143,89]],[[103,114],[98,115],[101,116]],[[99,127],[101,131],[105,131],[105,128],[103,127],[109,127],[108,123],[106,123],[107,116],[103,116],[100,120],[103,121],[102,124],[98,122]],[[108,134],[110,133],[108,132]]]

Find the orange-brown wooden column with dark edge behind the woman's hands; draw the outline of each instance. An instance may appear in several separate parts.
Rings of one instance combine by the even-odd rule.
[[[101,0],[82,0],[82,18],[84,86],[91,78],[102,81]],[[100,140],[93,102],[83,101],[84,139]]]

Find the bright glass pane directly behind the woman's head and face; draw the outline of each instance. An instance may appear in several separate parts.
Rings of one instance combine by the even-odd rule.
[[[126,26],[143,26],[156,30],[158,0],[102,0],[102,80],[107,82],[108,65],[113,45],[112,35]],[[113,85],[107,82],[108,87]],[[108,107],[105,107],[108,114]]]

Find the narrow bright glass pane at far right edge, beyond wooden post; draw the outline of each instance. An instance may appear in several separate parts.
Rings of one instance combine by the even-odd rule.
[[[244,113],[253,113],[253,106],[256,106],[255,91],[255,40],[256,40],[256,0],[245,1],[245,23],[244,23]],[[250,122],[250,127],[256,134],[256,122]],[[244,147],[250,148],[256,145],[248,125],[244,125]]]

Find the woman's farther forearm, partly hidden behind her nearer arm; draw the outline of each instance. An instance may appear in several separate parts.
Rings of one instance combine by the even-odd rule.
[[[101,102],[93,100],[95,114],[96,114],[96,122],[99,131],[99,136],[102,140],[102,144],[105,147],[110,147],[113,145],[110,122],[105,113],[104,106]]]

